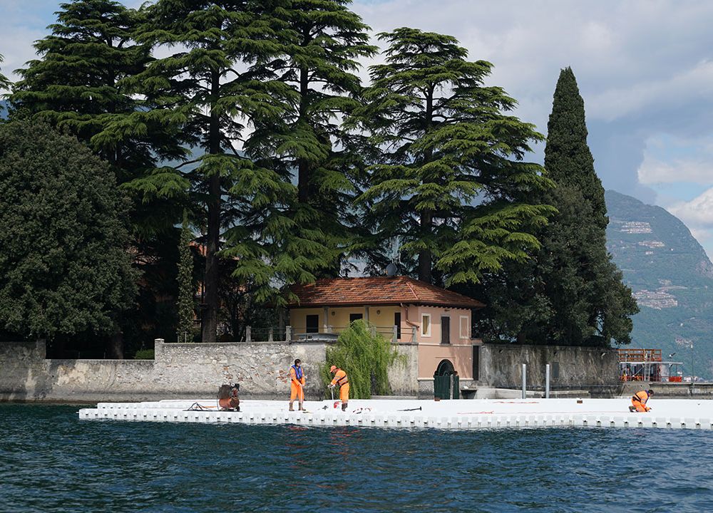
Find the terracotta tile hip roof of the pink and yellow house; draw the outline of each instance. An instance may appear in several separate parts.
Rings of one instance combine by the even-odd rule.
[[[320,279],[307,285],[293,285],[299,301],[290,306],[352,306],[422,304],[453,308],[481,308],[480,301],[441,289],[408,276]]]

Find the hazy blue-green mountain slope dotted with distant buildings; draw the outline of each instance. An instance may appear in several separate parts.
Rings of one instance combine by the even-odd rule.
[[[691,232],[661,207],[606,192],[607,249],[631,286],[635,347],[661,348],[684,375],[713,375],[713,264]]]

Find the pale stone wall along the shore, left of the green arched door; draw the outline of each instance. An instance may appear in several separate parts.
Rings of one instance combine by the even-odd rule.
[[[295,358],[307,376],[307,399],[322,398],[319,342],[155,343],[155,360],[47,360],[43,342],[0,343],[0,400],[97,402],[214,398],[223,383],[240,383],[243,398],[285,398]],[[415,345],[399,346],[406,364],[394,366],[396,395],[416,395]],[[414,363],[415,362],[415,363]]]

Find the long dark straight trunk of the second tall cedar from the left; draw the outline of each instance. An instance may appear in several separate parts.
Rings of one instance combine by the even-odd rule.
[[[220,74],[214,72],[211,78],[210,90],[213,101],[217,100],[220,92]],[[210,127],[208,132],[208,152],[211,155],[220,153],[220,119],[215,109],[210,112]],[[218,324],[218,269],[217,252],[220,249],[220,175],[208,178],[208,223],[207,241],[205,243],[205,309],[202,312],[203,342],[215,342]]]

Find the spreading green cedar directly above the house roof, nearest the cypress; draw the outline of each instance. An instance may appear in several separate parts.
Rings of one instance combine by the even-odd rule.
[[[551,208],[523,198],[550,185],[525,162],[543,139],[508,111],[515,100],[486,87],[492,65],[468,61],[456,38],[414,28],[380,33],[386,63],[371,66],[368,102],[351,122],[381,148],[365,207],[374,244],[399,237],[419,279],[477,282],[538,247]]]

